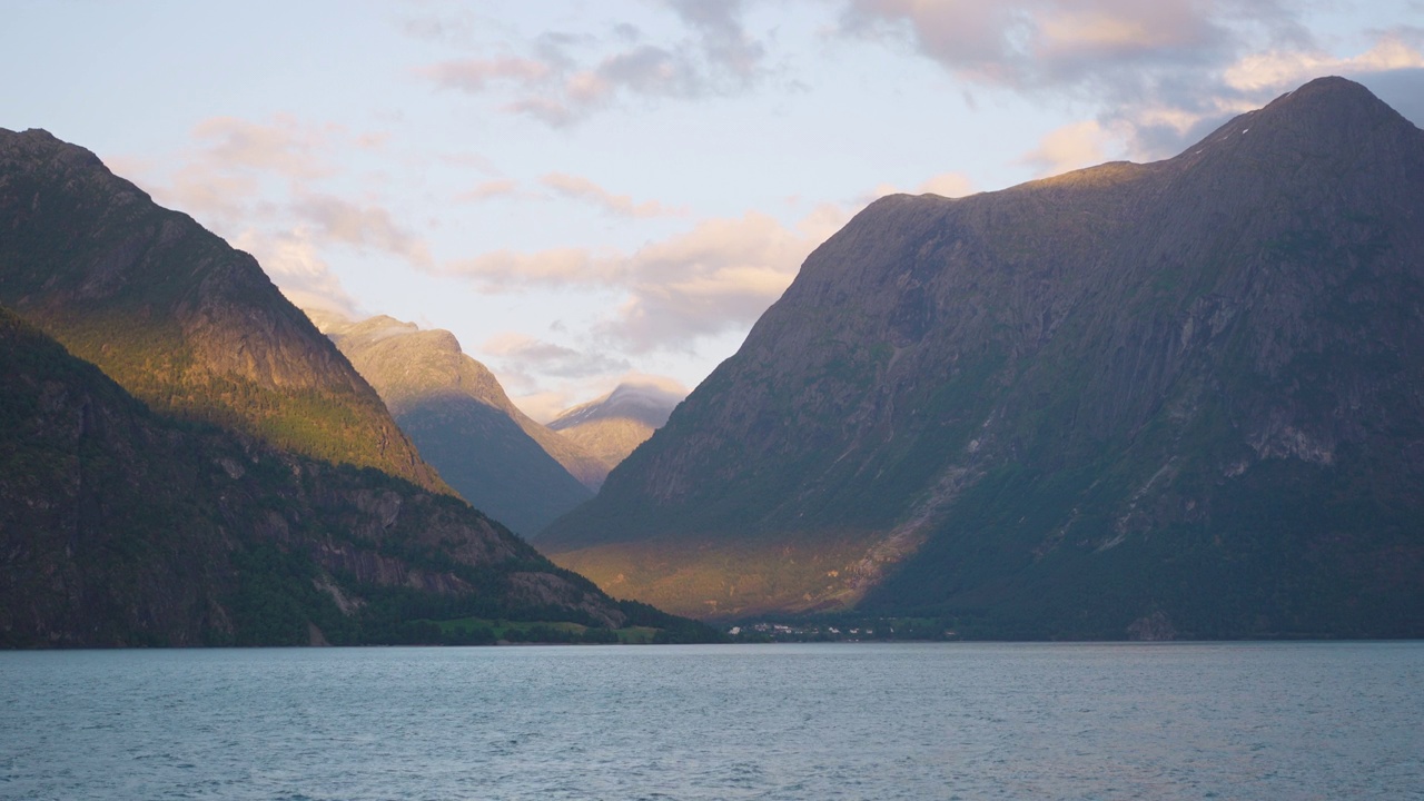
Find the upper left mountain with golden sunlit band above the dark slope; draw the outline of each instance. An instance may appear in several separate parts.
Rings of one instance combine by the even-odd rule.
[[[449,492],[248,254],[93,153],[0,128],[0,304],[155,410]]]

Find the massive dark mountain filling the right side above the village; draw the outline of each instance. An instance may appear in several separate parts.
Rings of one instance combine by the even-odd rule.
[[[1343,78],[883,198],[540,547],[702,617],[1424,636],[1421,221],[1424,133]]]

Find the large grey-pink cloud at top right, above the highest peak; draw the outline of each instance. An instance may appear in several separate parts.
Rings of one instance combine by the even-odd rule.
[[[907,43],[956,78],[1064,105],[1096,107],[1025,161],[1045,174],[1112,140],[1132,158],[1179,153],[1233,114],[1321,74],[1364,78],[1417,68],[1415,29],[1376,31],[1349,58],[1330,56],[1292,0],[844,0],[839,33]]]

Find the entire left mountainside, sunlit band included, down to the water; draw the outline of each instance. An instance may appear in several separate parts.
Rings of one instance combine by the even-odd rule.
[[[44,131],[0,130],[0,646],[711,634],[456,497],[252,257]]]

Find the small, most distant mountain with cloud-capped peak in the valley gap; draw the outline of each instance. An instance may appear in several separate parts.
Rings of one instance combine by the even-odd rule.
[[[682,398],[654,383],[624,382],[602,398],[560,412],[548,428],[611,470],[668,422]]]

